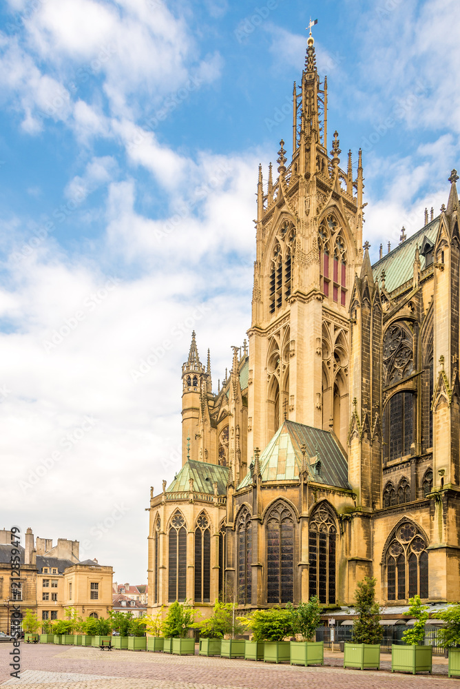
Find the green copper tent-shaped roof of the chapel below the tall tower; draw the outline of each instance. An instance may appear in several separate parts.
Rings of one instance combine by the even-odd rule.
[[[260,455],[262,481],[292,481],[302,467],[302,445],[306,446],[309,480],[326,486],[351,489],[348,462],[329,431],[284,421]],[[313,457],[319,457],[320,466]],[[251,484],[248,471],[238,489]]]

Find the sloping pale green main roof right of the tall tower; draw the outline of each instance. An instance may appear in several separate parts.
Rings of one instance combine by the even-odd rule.
[[[387,292],[392,292],[393,289],[397,289],[400,285],[404,285],[404,282],[412,280],[414,274],[414,258],[415,258],[415,248],[421,248],[424,243],[424,238],[430,240],[432,244],[435,243],[438,229],[439,229],[439,218],[435,218],[428,225],[419,229],[419,232],[415,232],[411,237],[408,237],[405,242],[397,245],[393,251],[386,254],[377,263],[374,263],[372,267],[374,280],[379,283],[381,287],[381,271],[385,269],[385,289]],[[425,257],[420,256],[421,270],[425,267]]]

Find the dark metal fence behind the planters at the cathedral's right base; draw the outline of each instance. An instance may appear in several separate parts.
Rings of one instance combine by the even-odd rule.
[[[392,644],[404,644],[402,635],[406,629],[412,625],[406,624],[384,624],[382,630],[384,637],[381,640],[380,650],[390,653]],[[340,650],[341,644],[345,641],[353,641],[353,625],[339,625],[337,627],[318,627],[316,630],[316,640],[324,641],[324,648]],[[433,655],[444,655],[444,647],[439,641],[439,627],[427,625],[425,627],[425,641],[427,646],[432,646]]]

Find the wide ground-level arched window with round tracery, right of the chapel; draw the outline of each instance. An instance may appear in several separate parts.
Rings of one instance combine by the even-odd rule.
[[[428,598],[428,553],[426,541],[413,522],[397,527],[386,551],[387,597],[406,600]]]

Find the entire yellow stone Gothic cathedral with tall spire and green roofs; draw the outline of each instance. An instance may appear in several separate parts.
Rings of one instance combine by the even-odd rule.
[[[217,394],[195,333],[182,366],[182,469],[150,496],[150,613],[311,595],[332,611],[365,575],[386,606],[460,600],[457,172],[440,213],[371,265],[362,152],[354,176],[328,142],[311,32],[292,131],[278,176],[259,167],[248,341]]]

